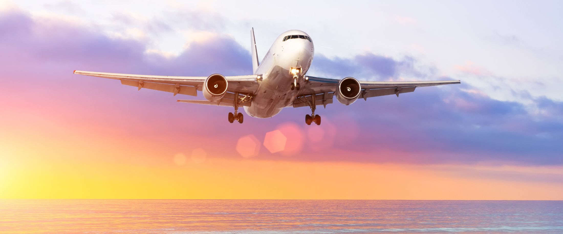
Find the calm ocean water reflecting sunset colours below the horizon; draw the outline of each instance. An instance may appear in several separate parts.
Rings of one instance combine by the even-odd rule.
[[[0,233],[563,233],[563,201],[0,200]]]

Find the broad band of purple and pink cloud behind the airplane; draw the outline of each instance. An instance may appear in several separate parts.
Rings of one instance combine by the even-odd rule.
[[[0,50],[3,74],[10,78],[0,88],[0,97],[14,102],[2,104],[2,108],[17,104],[38,116],[70,123],[77,132],[84,124],[119,129],[140,143],[162,144],[163,152],[207,145],[211,154],[236,157],[236,153],[221,150],[235,152],[239,136],[254,134],[263,139],[274,126],[291,121],[309,140],[301,153],[283,160],[563,163],[563,103],[547,98],[532,99],[532,106],[539,109],[534,113],[521,103],[463,91],[473,89],[466,84],[450,85],[419,88],[399,98],[359,100],[350,106],[330,104],[317,111],[323,116],[321,126],[305,125],[307,108],[287,108],[269,120],[245,118],[243,125],[233,125],[226,121],[230,108],[176,103],[176,99],[192,97],[137,91],[115,80],[72,74],[74,69],[190,76],[249,74],[249,52],[231,38],[192,43],[180,56],[167,58],[146,53],[146,45],[136,40],[109,38],[91,27],[63,22],[44,24],[25,12],[12,11],[0,14]],[[414,58],[397,60],[371,53],[350,59],[317,54],[312,66],[335,78],[389,79],[402,73],[414,75],[413,79],[432,76],[416,70],[415,62]],[[316,136],[321,140],[316,141]],[[217,142],[222,143],[221,149],[213,149]],[[261,158],[282,159],[264,152],[262,149]]]

